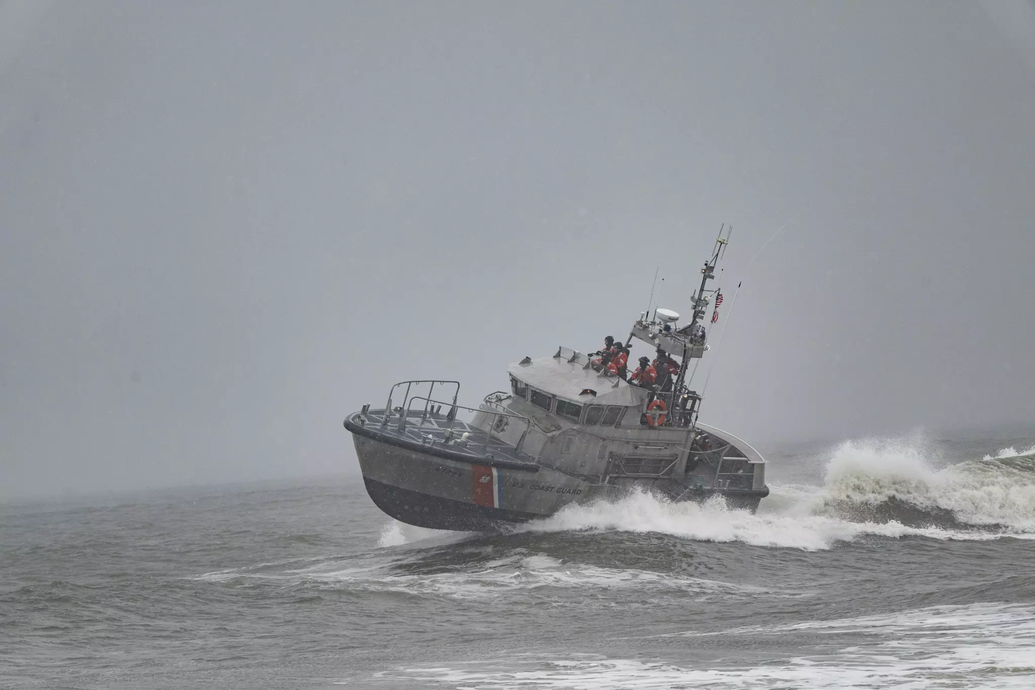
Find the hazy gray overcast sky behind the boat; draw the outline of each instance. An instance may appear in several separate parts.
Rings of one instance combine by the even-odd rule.
[[[656,267],[687,312],[721,222],[703,421],[1031,422],[1033,46],[1026,0],[0,3],[0,494],[354,471],[390,383],[624,338]]]

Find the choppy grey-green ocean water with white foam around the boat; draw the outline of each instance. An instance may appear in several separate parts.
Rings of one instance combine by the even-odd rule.
[[[503,534],[356,476],[0,506],[3,688],[1033,688],[1035,441],[769,453]]]

